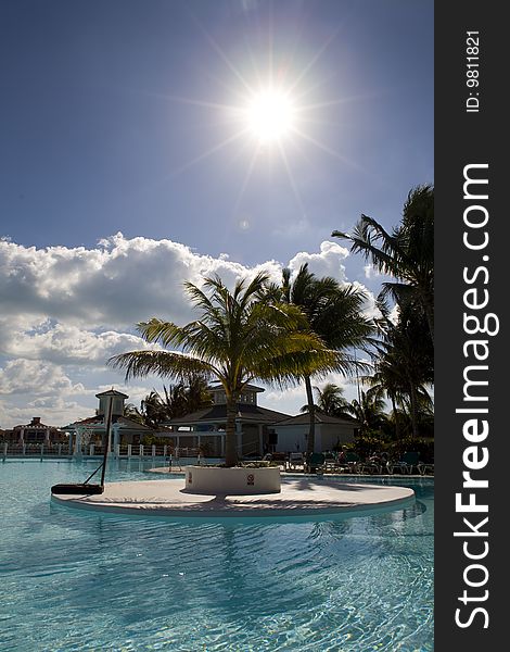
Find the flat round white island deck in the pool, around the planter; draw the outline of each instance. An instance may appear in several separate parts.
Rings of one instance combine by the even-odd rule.
[[[109,482],[101,494],[53,494],[52,500],[69,507],[138,516],[314,518],[404,507],[415,501],[415,492],[407,487],[365,482],[318,482],[304,476],[282,478],[280,493],[204,496],[186,492],[182,478],[168,478]]]

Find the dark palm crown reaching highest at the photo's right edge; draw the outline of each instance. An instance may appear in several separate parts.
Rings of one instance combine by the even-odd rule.
[[[418,303],[434,341],[434,189],[413,188],[404,204],[401,223],[388,234],[375,220],[361,215],[353,235],[335,230],[336,238],[350,240],[350,251],[361,252],[379,272],[398,283],[384,283],[381,296],[392,296],[400,305]]]

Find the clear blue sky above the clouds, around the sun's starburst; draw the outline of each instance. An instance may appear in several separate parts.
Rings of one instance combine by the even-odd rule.
[[[296,90],[330,152],[292,138],[294,188],[269,152],[242,191],[245,137],[190,164],[239,126],[181,99],[239,104],[271,52],[292,80],[322,48]],[[433,181],[431,0],[3,0],[0,62],[0,235],[26,246],[120,230],[285,262]]]

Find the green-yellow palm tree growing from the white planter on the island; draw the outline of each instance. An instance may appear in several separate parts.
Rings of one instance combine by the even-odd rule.
[[[182,352],[131,351],[109,363],[126,369],[126,379],[154,373],[177,379],[192,373],[216,377],[227,400],[226,464],[234,466],[237,403],[243,388],[255,378],[285,386],[317,371],[336,369],[336,356],[309,331],[301,310],[273,301],[265,274],[237,281],[233,292],[218,276],[204,279],[208,293],[191,283],[184,287],[201,312],[199,319],[186,326],[156,318],[138,325],[146,341]]]

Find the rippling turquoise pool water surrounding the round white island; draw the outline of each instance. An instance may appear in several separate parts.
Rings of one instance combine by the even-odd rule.
[[[412,507],[324,523],[175,524],[50,504],[51,485],[93,468],[0,464],[0,650],[433,650],[431,479],[398,478]],[[107,474],[148,477],[138,461]]]

